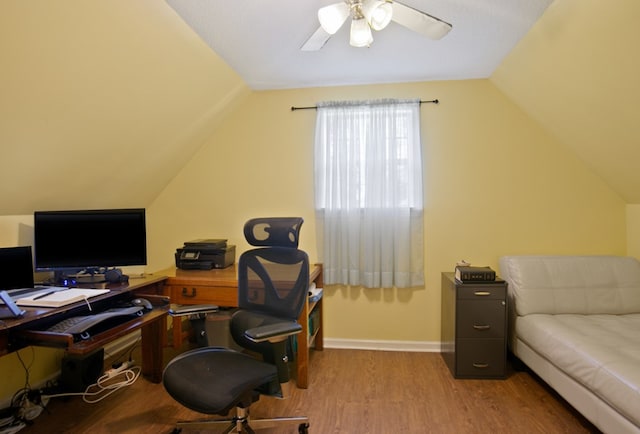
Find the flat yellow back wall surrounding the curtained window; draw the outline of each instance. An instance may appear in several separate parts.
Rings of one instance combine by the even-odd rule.
[[[247,248],[244,221],[300,215],[317,258],[315,112],[327,99],[420,97],[425,164],[424,288],[327,288],[327,338],[439,340],[440,273],[505,254],[625,254],[625,204],[488,80],[256,92],[151,205],[150,266],[191,238]]]

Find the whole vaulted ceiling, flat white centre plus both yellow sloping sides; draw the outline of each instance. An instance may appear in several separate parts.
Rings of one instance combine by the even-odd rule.
[[[242,41],[226,32],[212,49],[157,0],[0,3],[0,215],[149,205],[255,89],[469,77],[489,78],[640,203],[637,0],[407,0],[454,30],[434,42],[395,26],[355,49],[343,29],[305,60],[298,48],[331,1],[207,3]],[[281,51],[242,51],[263,43]],[[389,48],[398,57],[367,57]]]

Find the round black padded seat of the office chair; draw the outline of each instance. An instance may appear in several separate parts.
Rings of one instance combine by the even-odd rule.
[[[226,415],[233,407],[250,405],[255,401],[253,391],[277,375],[274,365],[227,348],[206,347],[169,362],[162,381],[167,392],[185,407]]]

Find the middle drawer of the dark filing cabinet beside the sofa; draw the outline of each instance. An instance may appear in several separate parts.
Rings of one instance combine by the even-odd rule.
[[[459,300],[456,332],[460,338],[503,338],[506,323],[504,300]]]

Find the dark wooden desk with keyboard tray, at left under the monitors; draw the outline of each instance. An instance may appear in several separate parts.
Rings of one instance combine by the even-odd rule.
[[[24,308],[22,318],[4,319],[0,326],[0,355],[16,351],[28,345],[64,348],[69,354],[89,354],[104,347],[132,331],[140,329],[142,334],[142,374],[154,383],[162,380],[162,336],[166,329],[169,310],[168,299],[162,296],[166,277],[149,276],[131,279],[128,283],[108,284],[107,294],[92,297],[89,301],[94,311],[107,309],[123,300],[134,298],[133,294],[144,295],[154,304],[154,309],[144,316],[117,325],[87,340],[73,342],[71,335],[43,332],[49,326],[65,318],[87,315],[89,308],[84,301],[58,308]]]

